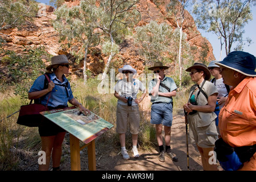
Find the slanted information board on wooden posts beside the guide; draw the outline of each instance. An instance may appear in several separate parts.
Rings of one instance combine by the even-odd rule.
[[[96,171],[95,139],[110,130],[113,125],[92,112],[84,115],[76,107],[43,111],[40,114],[69,133],[71,170],[81,170],[80,150],[87,147],[89,170]],[[85,145],[80,147],[79,141]]]

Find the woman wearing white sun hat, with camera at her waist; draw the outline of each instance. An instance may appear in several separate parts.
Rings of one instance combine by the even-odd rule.
[[[133,142],[133,154],[135,158],[139,158],[137,149],[138,133],[139,133],[139,102],[146,96],[146,88],[142,82],[133,78],[137,71],[130,65],[124,65],[119,68],[118,72],[122,73],[123,79],[115,84],[114,96],[117,101],[117,133],[121,143],[121,154],[123,159],[130,159],[125,147],[125,134],[127,127],[130,127]],[[143,92],[141,98],[137,98],[137,94],[141,90]]]

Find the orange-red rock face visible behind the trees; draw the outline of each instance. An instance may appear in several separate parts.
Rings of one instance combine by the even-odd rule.
[[[167,0],[165,1],[166,3],[168,2]],[[79,2],[79,0],[72,0],[66,1],[65,3],[69,6],[76,6],[79,5]],[[157,6],[152,0],[141,0],[137,7],[142,14],[142,19],[137,26],[147,24],[150,20],[156,20],[159,23],[166,22],[170,24],[173,29],[177,27],[174,18],[166,18],[164,5]],[[47,5],[41,10],[43,10],[44,13],[38,18],[35,18],[35,22],[26,24],[26,26],[22,27],[20,30],[17,28],[2,30],[0,36],[6,40],[3,48],[6,50],[13,50],[16,53],[23,53],[22,50],[24,49],[24,46],[44,46],[46,51],[51,55],[65,54],[70,59],[73,59],[73,57],[69,55],[69,50],[63,50],[60,47],[59,35],[54,30],[51,23],[51,21],[56,18],[53,14],[53,7]],[[189,44],[197,48],[197,51],[195,52],[195,61],[200,60],[200,51],[205,47],[208,48],[205,56],[207,57],[207,60],[214,60],[211,44],[207,39],[201,36],[188,11],[185,11],[183,31],[187,34],[187,41]],[[145,67],[145,60],[138,55],[138,47],[134,44],[134,40],[132,38],[125,39],[119,46],[121,51],[114,57],[112,67],[117,70],[117,68],[122,67],[123,64],[130,64],[137,69],[138,74],[142,73]],[[100,46],[93,48],[90,52],[93,52],[93,54],[88,54],[86,68],[90,70],[92,76],[97,76],[99,73],[103,72],[108,57],[101,53]],[[75,73],[74,75],[82,77],[82,68],[83,60],[81,60],[79,65],[76,65],[76,68],[74,68],[72,72]]]

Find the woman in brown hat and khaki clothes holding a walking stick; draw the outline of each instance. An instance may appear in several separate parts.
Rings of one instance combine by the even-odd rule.
[[[183,106],[188,113],[189,137],[196,142],[203,169],[216,171],[217,165],[209,162],[212,156],[209,154],[213,151],[214,143],[218,139],[215,124],[217,115],[214,113],[218,92],[214,84],[207,81],[211,75],[206,65],[195,63],[186,71],[190,72],[191,80],[196,82],[189,93],[189,102]]]

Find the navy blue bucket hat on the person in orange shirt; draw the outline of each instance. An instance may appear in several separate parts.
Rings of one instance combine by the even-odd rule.
[[[215,63],[234,71],[240,72],[246,76],[256,76],[256,59],[254,55],[243,51],[233,51],[224,58],[224,60]]]

